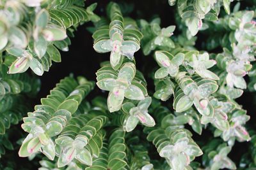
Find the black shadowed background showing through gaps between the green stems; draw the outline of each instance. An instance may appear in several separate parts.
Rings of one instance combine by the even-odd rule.
[[[88,0],[86,1],[86,6],[92,3],[98,3],[97,10],[95,13],[97,15],[102,16],[105,14],[105,8],[109,1],[106,0],[99,0],[93,1]],[[167,0],[150,0],[150,1],[143,1],[143,0],[129,0],[129,1],[116,1],[120,4],[134,4],[134,10],[130,13],[130,17],[140,19],[143,18],[145,20],[151,20],[151,18],[158,16],[161,18],[161,27],[167,27],[169,25],[175,25],[175,7],[169,6]],[[242,9],[246,7],[246,3],[241,3]],[[125,8],[125,6],[124,6]],[[223,10],[223,9],[222,9]],[[127,11],[129,8],[127,7]],[[104,60],[109,60],[109,53],[97,53],[93,50],[93,39],[92,34],[86,30],[86,27],[93,26],[92,23],[85,23],[78,27],[77,31],[75,32],[75,38],[71,38],[72,45],[69,46],[68,52],[61,52],[61,63],[53,63],[52,67],[50,68],[49,72],[45,72],[42,77],[40,77],[42,81],[42,87],[36,97],[34,102],[35,104],[40,103],[40,98],[47,96],[49,91],[53,89],[62,78],[68,76],[70,74],[74,74],[74,76],[85,76],[88,80],[96,80],[95,73],[97,69],[100,68],[100,62]],[[175,31],[175,33],[178,33]],[[174,34],[175,34],[174,33]],[[201,44],[205,40],[205,37],[202,34],[198,34],[198,40],[196,41],[196,48],[198,50],[202,50]],[[220,52],[221,49],[216,49],[216,52]],[[156,66],[156,62],[154,61],[152,55],[144,56],[141,50],[135,53],[136,58],[136,67],[144,74],[145,78],[150,71],[152,71],[152,67]],[[148,82],[148,89],[154,90],[153,81],[147,78]],[[95,87],[95,90],[90,94],[89,97],[96,96],[97,94],[102,94],[102,92]],[[243,96],[240,97],[238,100],[239,104],[243,105],[243,108],[248,110],[248,115],[252,117],[252,119],[248,122],[248,124],[252,125],[255,122],[255,94],[251,92],[244,92]],[[164,105],[167,105],[169,108],[172,101],[167,101]],[[16,129],[20,128],[20,126],[15,127]],[[20,136],[20,135],[17,135]],[[209,131],[203,131],[202,136],[194,135],[193,138],[195,141],[204,141],[205,139],[212,138],[212,133]],[[19,138],[17,138],[19,139]],[[241,155],[247,152],[248,143],[238,143],[234,148],[232,148],[232,152],[230,153],[230,158],[236,162],[236,164],[241,159]],[[20,167],[26,167],[26,169],[37,169],[38,168],[38,160],[32,160],[29,162],[27,158],[19,158],[17,155],[17,150],[14,150],[15,155],[15,162],[17,163],[17,169]],[[13,159],[13,153],[3,156],[0,159],[1,164],[5,164],[6,160]],[[36,165],[37,164],[37,165]],[[1,169],[0,169],[1,170]]]

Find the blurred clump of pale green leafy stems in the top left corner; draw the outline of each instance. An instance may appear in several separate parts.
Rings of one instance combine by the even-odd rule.
[[[83,6],[81,1],[1,2],[0,50],[17,57],[9,73],[23,73],[30,67],[42,76],[44,71],[49,71],[52,61],[61,62],[58,49],[68,50],[67,35],[74,36],[79,24],[99,20],[93,13],[95,4],[87,10]]]

